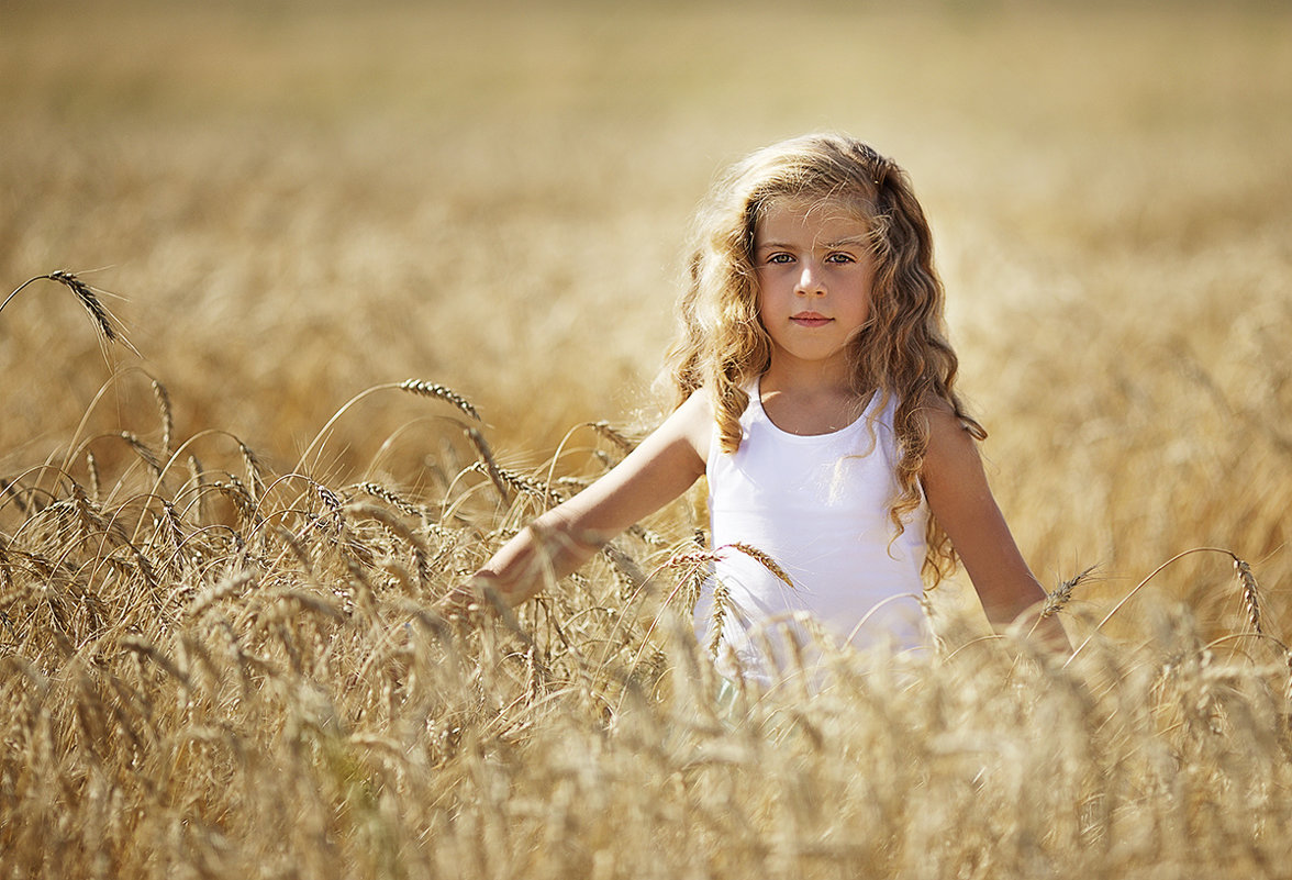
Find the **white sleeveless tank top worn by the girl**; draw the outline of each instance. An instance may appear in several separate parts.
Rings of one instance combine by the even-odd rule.
[[[894,539],[897,402],[889,398],[881,408],[880,399],[873,395],[842,430],[804,437],[767,419],[755,386],[734,455],[722,451],[714,426],[705,474],[718,560],[696,603],[695,627],[700,644],[712,645],[713,589],[721,581],[730,597],[721,632],[730,650],[720,646],[717,656],[722,675],[766,684],[814,658],[814,627],[805,616],[857,647],[932,644],[920,576],[928,508],[921,501]],[[793,588],[734,543],[775,560]],[[787,638],[805,650],[795,651]]]

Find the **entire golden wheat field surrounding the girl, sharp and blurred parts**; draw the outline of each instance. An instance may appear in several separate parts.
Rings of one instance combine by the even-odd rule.
[[[1286,876],[1283,5],[0,28],[0,876]],[[693,209],[811,129],[911,172],[1075,650],[951,583],[938,656],[720,706],[699,492],[443,619],[659,417]]]

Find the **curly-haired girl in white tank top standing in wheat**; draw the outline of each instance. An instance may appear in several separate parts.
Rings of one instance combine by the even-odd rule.
[[[796,613],[859,646],[926,644],[925,579],[957,557],[996,625],[1045,598],[952,388],[929,226],[897,164],[833,134],[760,150],[712,191],[690,265],[673,414],[459,605],[483,587],[523,602],[702,476],[718,561],[696,623],[718,618],[726,675],[774,675],[767,633]]]

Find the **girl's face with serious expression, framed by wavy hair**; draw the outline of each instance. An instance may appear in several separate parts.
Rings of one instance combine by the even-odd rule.
[[[776,200],[755,227],[758,317],[771,370],[848,370],[848,342],[871,315],[875,264],[866,222],[840,202]]]

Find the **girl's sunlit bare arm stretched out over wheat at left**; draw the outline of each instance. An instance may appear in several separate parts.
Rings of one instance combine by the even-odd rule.
[[[703,473],[713,412],[693,394],[610,473],[548,510],[475,574],[479,585],[518,605],[592,558],[611,538],[685,492]],[[470,588],[450,597],[469,600]]]

